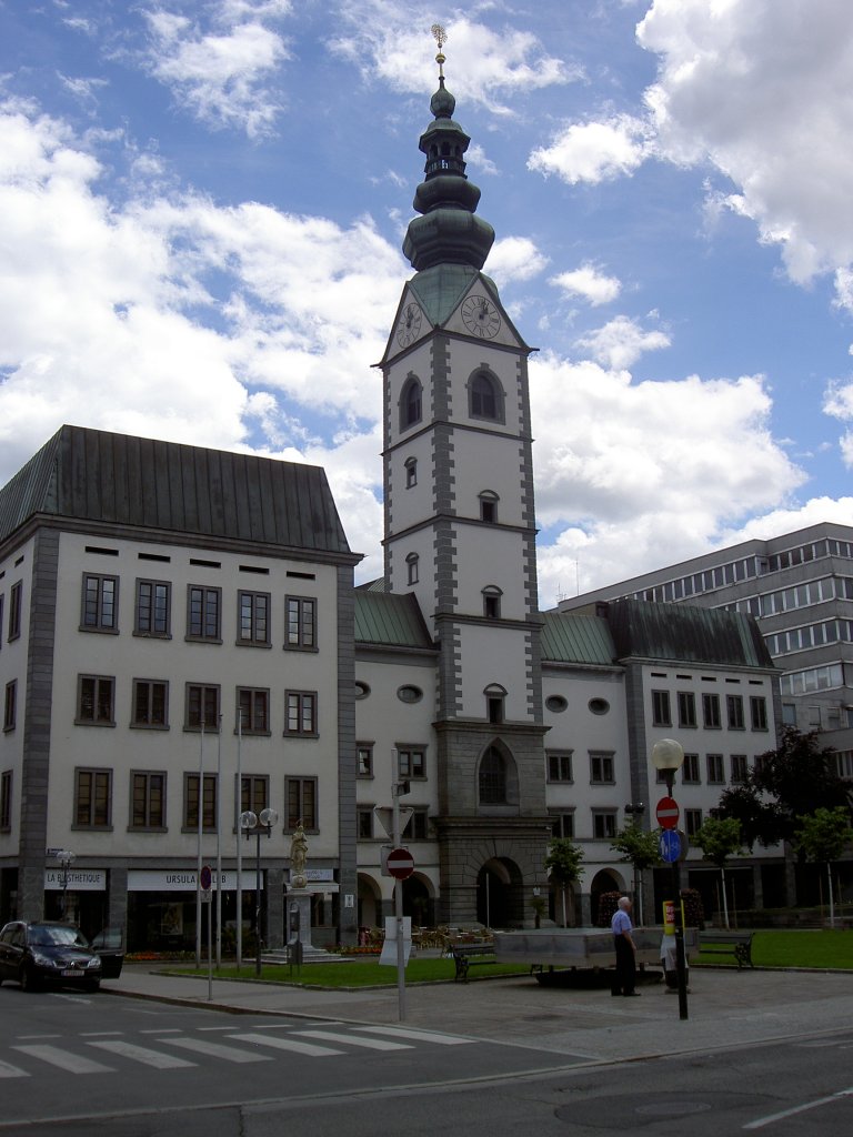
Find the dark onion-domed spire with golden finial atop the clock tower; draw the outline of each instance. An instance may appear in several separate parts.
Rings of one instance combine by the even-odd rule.
[[[425,177],[413,202],[422,216],[409,222],[403,251],[417,272],[440,264],[470,265],[479,271],[495,241],[495,231],[475,216],[480,190],[465,174],[463,155],[471,139],[454,122],[456,100],[445,86],[447,33],[440,24],[433,24],[432,34],[438,44],[438,91],[430,100],[433,121],[419,142],[426,157]]]

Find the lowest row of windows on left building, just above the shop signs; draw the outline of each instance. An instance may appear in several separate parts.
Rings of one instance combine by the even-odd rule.
[[[127,828],[165,832],[166,787],[168,774],[164,770],[132,770],[127,786]],[[182,830],[199,827],[199,774],[183,774]],[[113,829],[113,771],[103,767],[78,766],[74,771],[73,829]],[[201,828],[216,831],[218,779],[204,774],[201,779]],[[0,775],[0,829],[11,824],[13,771]],[[243,774],[241,778],[240,808],[256,813],[270,805],[270,778],[265,774]],[[301,821],[306,830],[316,832],[317,779],[284,779],[284,830],[292,831]],[[232,820],[233,825],[233,820]]]

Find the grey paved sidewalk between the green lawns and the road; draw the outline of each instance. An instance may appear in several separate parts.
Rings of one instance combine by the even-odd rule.
[[[303,969],[303,978],[305,971]],[[185,1003],[242,1014],[279,1014],[337,1022],[396,1024],[396,987],[381,990],[306,990],[279,984],[159,974],[150,964],[125,965],[105,991]],[[689,1019],[663,984],[640,998],[613,998],[608,988],[539,987],[514,976],[470,984],[407,986],[406,1023],[492,1043],[529,1046],[552,1055],[613,1061],[678,1054],[850,1028],[853,972],[732,971],[694,968]],[[545,1059],[544,1065],[553,1060]]]

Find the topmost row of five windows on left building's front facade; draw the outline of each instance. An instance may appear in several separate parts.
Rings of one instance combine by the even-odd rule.
[[[118,576],[83,574],[81,631],[118,632]],[[222,642],[223,598],[221,588],[187,587],[185,639]],[[284,597],[284,647],[313,652],[317,646],[317,601],[313,597]],[[271,647],[272,594],[238,589],[237,644]],[[168,639],[172,636],[172,583],[167,580],[135,582],[133,617],[135,636]]]

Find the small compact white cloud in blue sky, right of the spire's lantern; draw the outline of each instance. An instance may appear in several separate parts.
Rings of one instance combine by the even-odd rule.
[[[572,123],[548,147],[530,155],[528,168],[564,182],[607,181],[632,173],[652,152],[648,125],[630,115],[607,122]]]

